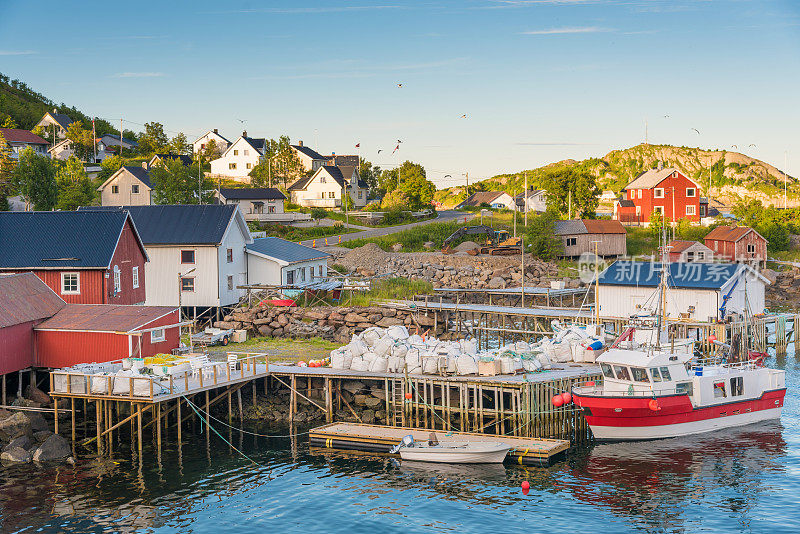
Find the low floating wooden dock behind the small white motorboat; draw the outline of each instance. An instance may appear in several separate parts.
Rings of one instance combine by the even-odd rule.
[[[411,427],[330,423],[311,430],[309,445],[318,449],[390,454],[391,448],[397,445],[403,436],[410,434],[416,441],[426,441],[430,432],[428,429]],[[492,436],[475,432],[439,432],[437,437],[441,443],[448,441],[506,443],[511,446],[506,461],[521,465],[550,465],[560,460],[570,447],[569,441],[562,439]]]

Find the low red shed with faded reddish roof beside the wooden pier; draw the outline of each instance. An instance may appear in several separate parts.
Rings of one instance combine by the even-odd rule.
[[[179,322],[168,306],[68,304],[36,326],[36,366],[169,354],[180,344]]]

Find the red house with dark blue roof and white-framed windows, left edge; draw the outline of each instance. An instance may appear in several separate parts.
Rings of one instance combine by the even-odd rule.
[[[70,304],[145,301],[144,245],[127,211],[0,212],[0,273],[33,272]]]

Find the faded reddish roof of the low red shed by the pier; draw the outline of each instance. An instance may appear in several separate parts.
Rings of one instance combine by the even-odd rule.
[[[50,319],[40,323],[36,330],[130,332],[176,309],[169,306],[67,304]]]

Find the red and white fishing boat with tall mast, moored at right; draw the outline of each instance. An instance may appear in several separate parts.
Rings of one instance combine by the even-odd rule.
[[[654,342],[625,345],[633,339],[633,332],[626,330],[597,359],[602,384],[572,390],[595,439],[670,438],[780,418],[785,372],[764,367],[765,354],[748,349],[747,340],[735,337],[730,345],[717,343],[719,350],[705,359],[662,342],[669,272],[666,249]]]

